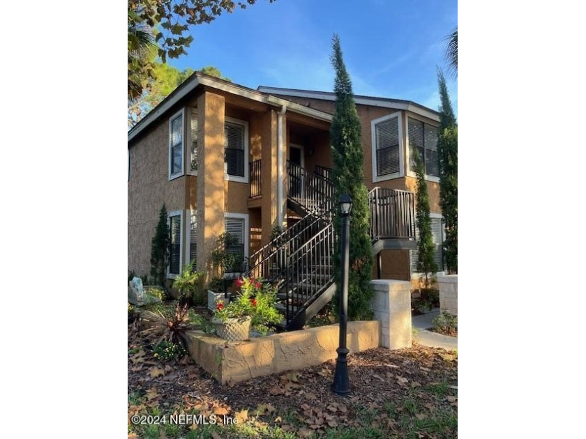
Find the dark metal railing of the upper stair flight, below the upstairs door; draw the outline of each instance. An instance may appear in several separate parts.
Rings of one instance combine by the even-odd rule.
[[[333,184],[331,180],[312,174],[298,164],[287,160],[287,197],[299,203],[309,213],[324,215],[333,207]]]

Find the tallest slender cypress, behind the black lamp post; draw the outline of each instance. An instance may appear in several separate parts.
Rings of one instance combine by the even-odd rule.
[[[341,194],[352,198],[350,211],[350,273],[348,279],[348,318],[359,320],[370,316],[373,287],[373,249],[369,235],[368,191],[364,185],[364,157],[361,145],[361,125],[352,95],[352,82],[340,49],[340,38],[332,39],[331,63],[336,70],[334,92],[336,114],[331,123],[332,178],[335,187],[334,229],[341,236],[342,220],[337,201]],[[341,291],[340,245],[334,253],[336,296]],[[339,300],[334,299],[338,306]]]

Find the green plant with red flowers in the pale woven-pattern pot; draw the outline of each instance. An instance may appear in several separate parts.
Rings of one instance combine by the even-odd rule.
[[[262,334],[266,334],[269,325],[280,322],[281,316],[275,307],[275,288],[262,284],[262,279],[254,277],[241,277],[236,280],[236,286],[240,287],[240,294],[229,305],[219,300],[213,312],[216,318],[225,322],[228,318],[250,316],[250,325]]]

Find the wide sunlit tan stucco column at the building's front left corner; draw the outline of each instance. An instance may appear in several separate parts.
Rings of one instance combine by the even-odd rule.
[[[207,271],[224,233],[224,97],[205,91],[197,98],[197,270]]]

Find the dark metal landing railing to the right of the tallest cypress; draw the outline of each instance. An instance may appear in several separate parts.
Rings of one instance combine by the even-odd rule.
[[[415,194],[375,187],[368,193],[370,238],[415,238]]]

